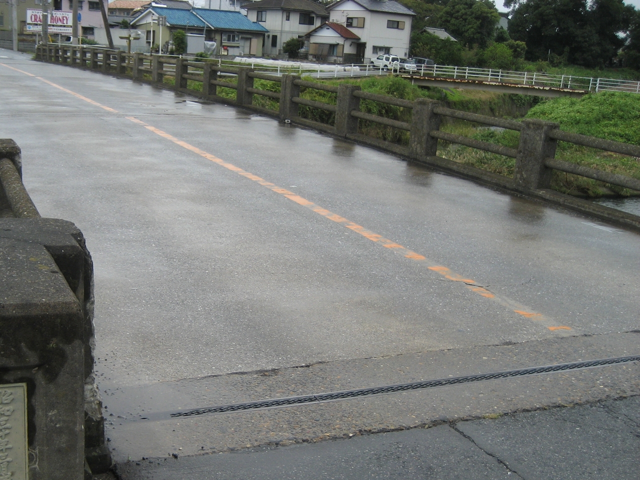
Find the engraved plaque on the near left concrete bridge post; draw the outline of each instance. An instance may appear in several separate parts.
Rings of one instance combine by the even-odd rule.
[[[28,480],[27,384],[0,385],[0,480]]]

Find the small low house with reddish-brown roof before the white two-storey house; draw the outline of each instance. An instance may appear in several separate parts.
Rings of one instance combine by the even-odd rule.
[[[358,48],[360,37],[344,25],[325,22],[313,29],[305,40],[309,42],[309,57],[321,61],[339,61],[341,63],[362,63]]]

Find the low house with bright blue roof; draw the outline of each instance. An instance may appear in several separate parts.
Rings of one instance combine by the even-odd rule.
[[[166,17],[166,25],[159,26],[157,18]],[[168,51],[168,42],[176,30],[187,34],[187,53],[204,51],[204,42],[215,42],[214,54],[262,55],[264,37],[268,33],[262,25],[250,21],[240,12],[230,10],[191,10],[154,6],[147,8],[131,22],[132,28],[147,32],[147,45],[162,45]]]

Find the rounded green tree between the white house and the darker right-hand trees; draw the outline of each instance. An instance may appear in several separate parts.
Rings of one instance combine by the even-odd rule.
[[[449,0],[440,14],[440,26],[468,48],[486,47],[499,20],[492,0]]]

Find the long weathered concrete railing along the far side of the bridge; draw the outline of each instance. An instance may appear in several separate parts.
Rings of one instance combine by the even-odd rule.
[[[614,217],[614,220],[640,230],[640,218],[637,216],[548,190],[552,171],[559,170],[640,191],[639,179],[586,168],[555,158],[557,141],[640,157],[640,147],[636,145],[564,132],[559,129],[559,125],[542,120],[524,119],[522,122],[517,122],[493,118],[445,108],[435,100],[418,99],[412,102],[363,92],[360,86],[353,84],[326,85],[291,74],[276,76],[256,72],[252,68],[221,67],[212,61],[192,61],[175,56],[129,54],[75,46],[49,46],[46,49],[40,46],[37,55],[38,58],[47,58],[52,62],[162,84],[164,88],[173,88],[178,92],[188,93],[205,100],[235,104],[274,116],[284,122],[303,125],[340,138],[387,150],[404,158],[454,172],[485,184],[545,198],[579,211],[595,214],[606,220],[612,220]],[[172,77],[173,86],[170,81],[165,81],[165,77]],[[262,80],[261,85],[264,88],[273,87],[273,90],[256,88],[255,79]],[[235,92],[235,95],[222,92],[221,88],[230,89],[230,92]],[[305,98],[305,94],[310,90],[322,93],[324,101]],[[401,120],[371,113],[371,111],[377,111],[369,108],[371,102],[383,108],[398,108],[400,113],[397,118]],[[366,111],[367,109],[370,111]],[[319,114],[311,115],[313,112]],[[442,131],[440,124],[447,118],[518,131],[520,132],[518,148]],[[368,125],[380,125],[391,131],[403,132],[395,137],[401,138],[401,141],[387,141],[379,138],[380,135],[378,137],[369,135],[367,131],[375,131],[375,129],[365,128]],[[513,158],[515,159],[513,178],[438,157],[438,141],[465,145]]]

